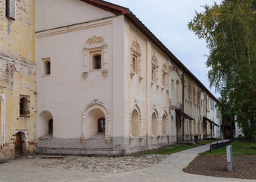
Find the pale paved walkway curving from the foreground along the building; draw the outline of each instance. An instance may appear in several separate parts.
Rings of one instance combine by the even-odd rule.
[[[256,181],[239,180],[225,177],[206,177],[194,174],[187,174],[182,171],[200,152],[209,149],[209,145],[200,146],[194,149],[171,154],[164,161],[151,168],[144,168],[137,171],[123,173],[98,173],[82,170],[64,170],[56,168],[40,167],[46,163],[54,162],[53,159],[27,159],[21,158],[12,162],[0,165],[0,181],[72,181],[72,182],[165,182],[165,181],[207,181],[207,182],[228,182],[228,181]]]

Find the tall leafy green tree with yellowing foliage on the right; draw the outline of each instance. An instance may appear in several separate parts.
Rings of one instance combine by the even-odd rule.
[[[256,0],[223,0],[203,6],[188,24],[205,39],[210,55],[210,86],[222,96],[219,103],[235,117],[245,137],[256,136]]]

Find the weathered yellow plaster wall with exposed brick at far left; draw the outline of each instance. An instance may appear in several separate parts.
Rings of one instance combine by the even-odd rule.
[[[0,160],[14,158],[15,133],[24,133],[23,152],[36,146],[36,70],[34,64],[34,1],[16,1],[14,20],[0,1],[0,96],[2,99]],[[21,96],[30,99],[29,117],[21,117]]]

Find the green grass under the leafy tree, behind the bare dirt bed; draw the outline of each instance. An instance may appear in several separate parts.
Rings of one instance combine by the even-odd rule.
[[[233,143],[229,143],[229,146],[232,146],[233,155],[256,155],[256,141],[248,140],[236,140]],[[223,146],[219,149],[213,149],[210,151],[203,152],[200,155],[226,155],[226,146]]]

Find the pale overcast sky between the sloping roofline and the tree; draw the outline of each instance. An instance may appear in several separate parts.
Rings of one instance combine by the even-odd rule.
[[[209,51],[203,39],[188,30],[187,23],[202,5],[219,4],[221,0],[106,0],[129,8],[158,39],[210,89],[206,78],[206,56]],[[214,96],[214,88],[210,89]]]

